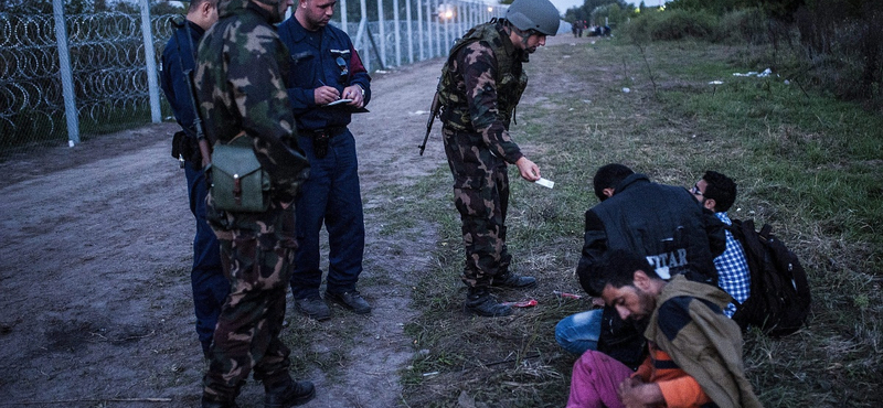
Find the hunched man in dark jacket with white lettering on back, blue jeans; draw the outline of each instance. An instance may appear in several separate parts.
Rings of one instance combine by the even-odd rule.
[[[716,284],[713,260],[724,250],[724,225],[685,189],[652,183],[618,163],[599,168],[593,186],[600,203],[585,214],[576,268],[591,296],[600,293],[593,292],[587,282],[607,268],[602,262],[605,254],[617,249],[646,257],[663,279],[684,273],[691,280]],[[598,350],[637,367],[645,354],[641,331],[605,308],[565,318],[555,328],[555,337],[574,354]]]

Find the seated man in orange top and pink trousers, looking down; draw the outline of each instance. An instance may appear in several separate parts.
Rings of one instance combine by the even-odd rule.
[[[721,309],[731,297],[678,275],[667,282],[642,258],[608,253],[593,290],[624,320],[646,321],[650,355],[632,373],[603,353],[576,361],[567,408],[760,407],[742,363],[742,332]]]

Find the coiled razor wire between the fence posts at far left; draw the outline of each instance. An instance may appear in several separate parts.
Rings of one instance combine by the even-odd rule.
[[[169,20],[150,19],[155,54],[171,35]],[[147,105],[141,17],[120,12],[65,15],[74,93],[81,118],[98,121]],[[28,128],[58,129],[64,99],[52,15],[0,13],[0,126],[22,136]],[[6,137],[4,137],[6,139]],[[8,140],[7,140],[8,141]]]

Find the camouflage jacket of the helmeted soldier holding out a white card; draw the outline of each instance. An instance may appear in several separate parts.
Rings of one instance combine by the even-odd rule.
[[[450,50],[442,68],[442,121],[456,131],[482,135],[496,155],[514,163],[521,150],[509,137],[509,122],[528,85],[522,63],[500,22],[476,25]]]

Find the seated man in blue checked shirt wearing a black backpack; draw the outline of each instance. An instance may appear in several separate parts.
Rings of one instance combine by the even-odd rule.
[[[706,171],[702,180],[698,181],[690,190],[703,207],[714,212],[714,216],[726,225],[733,225],[726,212],[736,201],[736,183],[715,171]],[[742,303],[751,294],[752,280],[748,273],[748,262],[745,260],[745,250],[733,234],[726,230],[726,249],[721,256],[714,258],[717,269],[717,286],[730,293],[736,302]],[[730,303],[724,310],[727,318],[736,312],[736,305]]]

